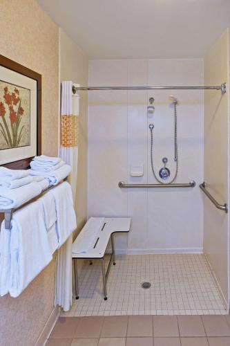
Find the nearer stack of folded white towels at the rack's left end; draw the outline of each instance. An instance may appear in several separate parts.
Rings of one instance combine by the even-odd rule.
[[[45,183],[47,184],[46,181]],[[42,190],[44,183],[34,181],[28,170],[0,167],[0,209],[17,208],[38,196]]]

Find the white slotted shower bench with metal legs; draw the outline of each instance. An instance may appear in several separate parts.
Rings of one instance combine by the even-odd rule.
[[[122,217],[122,218],[108,218],[106,217],[104,219],[104,225],[101,229],[99,229],[96,237],[96,242],[93,244],[88,251],[85,253],[75,253],[75,247],[77,247],[77,238],[75,239],[75,242],[73,242],[73,250],[72,250],[72,258],[74,261],[74,271],[75,271],[75,295],[76,299],[79,298],[79,288],[78,288],[78,277],[77,277],[77,260],[83,260],[88,259],[90,260],[90,264],[92,264],[91,260],[99,259],[102,261],[102,277],[103,277],[103,286],[104,286],[104,300],[107,300],[107,290],[106,290],[106,282],[108,279],[108,274],[111,268],[112,260],[113,264],[115,265],[115,248],[114,248],[114,241],[113,241],[113,234],[114,233],[123,233],[123,232],[129,232],[131,226],[131,218],[129,217]],[[84,231],[87,230],[87,228],[83,228],[82,232],[84,235]],[[85,232],[87,237],[87,232]],[[109,239],[111,238],[111,244],[112,244],[112,253],[111,258],[108,263],[107,271],[105,271],[105,265],[104,265],[104,255],[106,252],[106,248],[108,246]]]

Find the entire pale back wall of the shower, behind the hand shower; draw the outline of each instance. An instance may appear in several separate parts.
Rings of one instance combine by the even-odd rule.
[[[203,60],[90,60],[90,86],[202,85]],[[121,190],[119,181],[155,183],[150,164],[154,128],[155,171],[162,157],[173,156],[173,107],[178,105],[179,172],[175,182],[195,180],[195,188]],[[147,115],[148,98],[155,113]],[[132,217],[128,237],[116,236],[120,253],[201,252],[203,206],[203,91],[88,92],[88,216]],[[131,177],[130,166],[144,165],[144,176]]]

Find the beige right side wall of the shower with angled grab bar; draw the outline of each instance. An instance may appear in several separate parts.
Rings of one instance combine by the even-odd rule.
[[[204,58],[204,84],[220,85],[229,78],[229,30],[226,30]],[[229,89],[204,92],[204,181],[219,203],[229,199]],[[204,252],[226,302],[228,290],[228,214],[204,199]]]

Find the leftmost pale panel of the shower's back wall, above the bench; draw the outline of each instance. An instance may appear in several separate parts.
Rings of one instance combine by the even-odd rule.
[[[127,84],[125,60],[91,61],[89,85]],[[126,217],[127,191],[118,188],[127,180],[127,92],[92,91],[88,104],[88,217]],[[126,235],[115,236],[115,245],[126,250]]]

